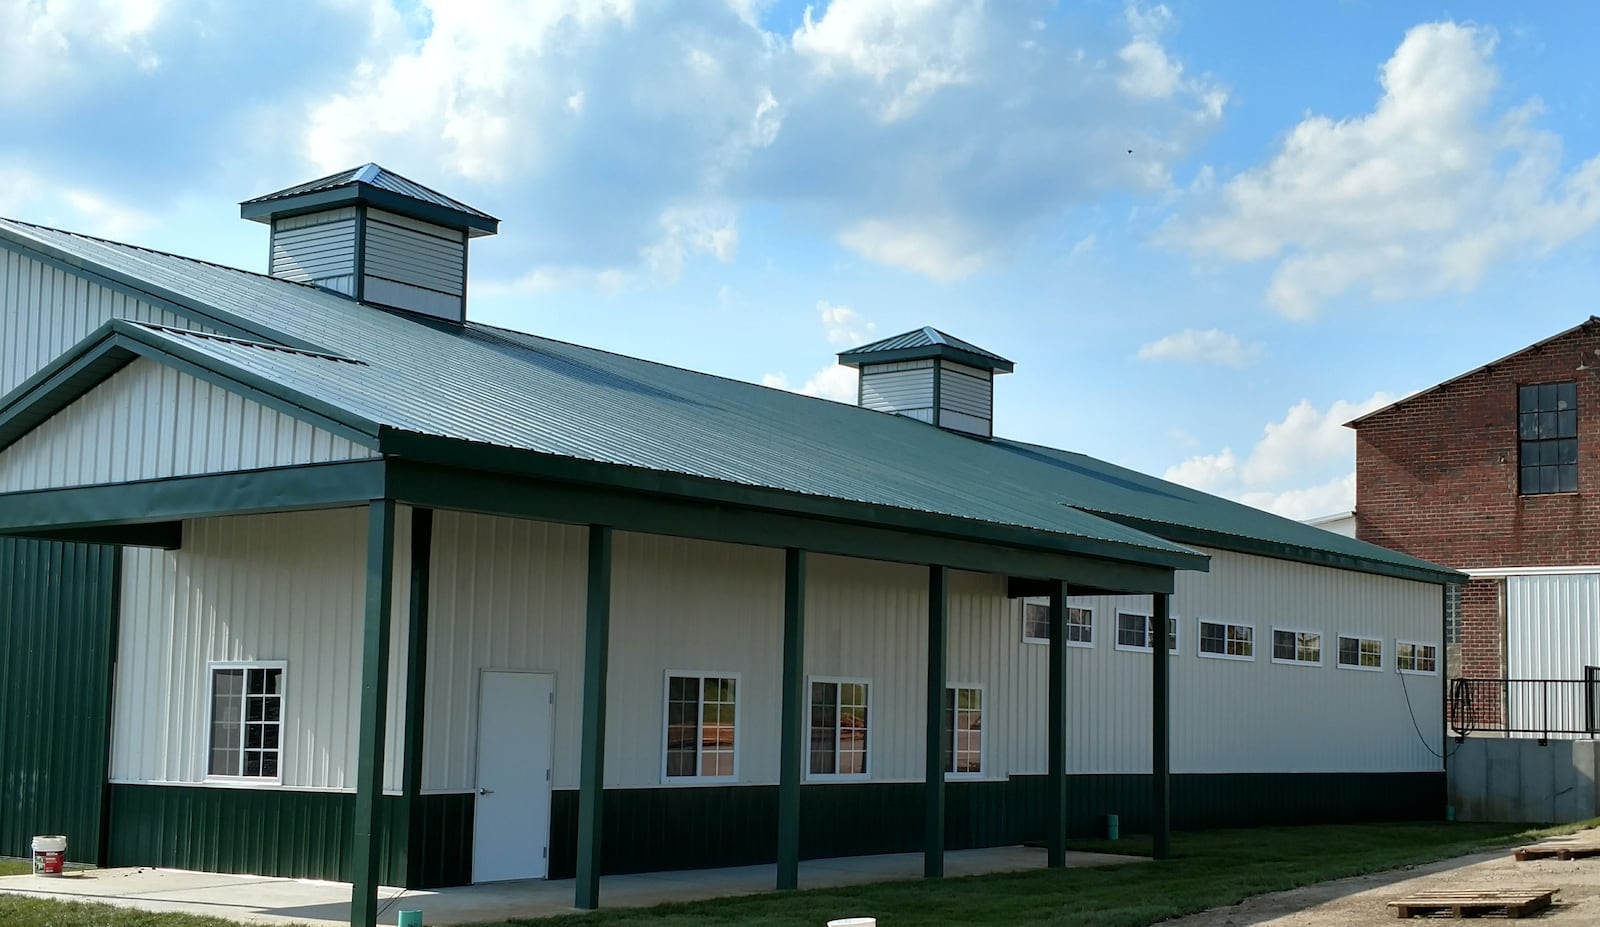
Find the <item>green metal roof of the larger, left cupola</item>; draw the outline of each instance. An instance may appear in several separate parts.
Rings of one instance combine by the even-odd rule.
[[[243,219],[272,223],[283,216],[315,213],[322,210],[365,203],[434,223],[448,229],[461,229],[467,235],[493,235],[499,232],[499,219],[461,200],[453,200],[438,191],[403,178],[376,163],[294,184],[282,191],[245,200],[238,205]]]

